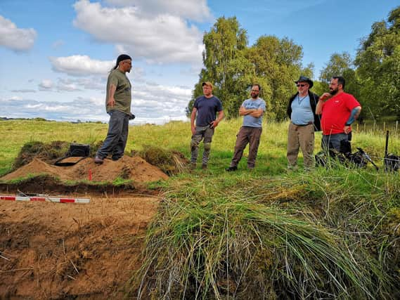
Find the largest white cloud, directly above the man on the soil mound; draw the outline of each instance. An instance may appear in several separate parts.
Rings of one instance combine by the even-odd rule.
[[[202,61],[202,34],[183,18],[167,13],[141,15],[138,8],[106,8],[88,0],[74,5],[74,25],[98,41],[116,44],[119,52],[151,63],[194,63]]]

